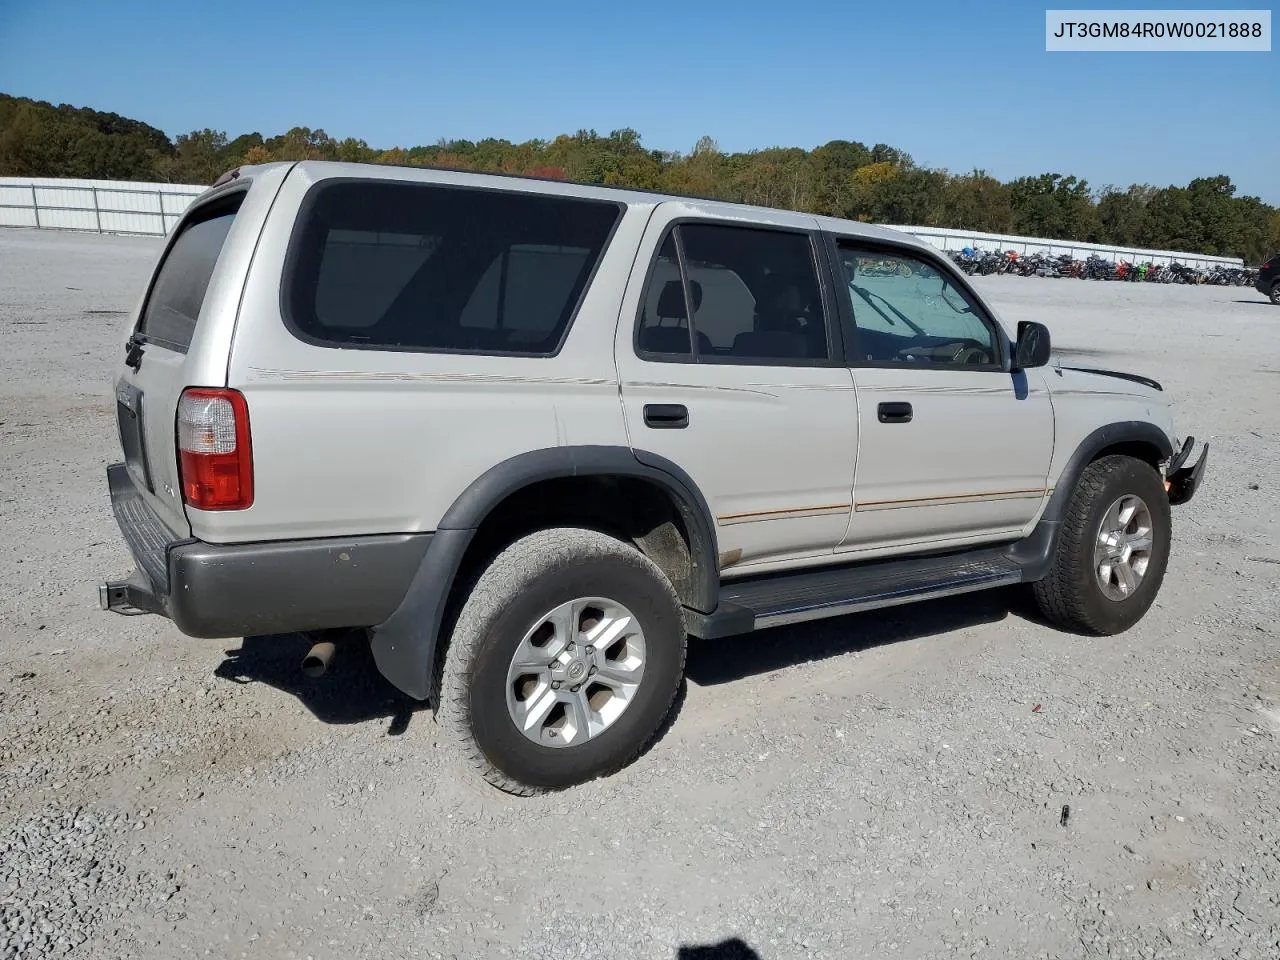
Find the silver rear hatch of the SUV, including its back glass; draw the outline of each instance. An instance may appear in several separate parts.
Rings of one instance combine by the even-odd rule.
[[[280,178],[265,179],[278,187]],[[179,221],[138,306],[115,381],[129,475],[179,539],[191,535],[191,526],[174,413],[187,387],[225,385],[239,293],[262,207],[270,202],[259,202],[255,193],[248,179],[210,191]]]

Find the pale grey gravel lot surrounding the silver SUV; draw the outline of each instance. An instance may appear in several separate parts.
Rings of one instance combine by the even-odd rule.
[[[1137,628],[991,594],[699,643],[636,764],[515,800],[364,655],[306,681],[301,641],[96,609],[131,566],[102,467],[156,252],[0,232],[0,959],[1280,956],[1260,294],[978,280],[1213,444]]]

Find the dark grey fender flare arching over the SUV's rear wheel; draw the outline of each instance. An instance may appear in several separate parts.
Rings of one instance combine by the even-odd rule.
[[[476,477],[440,518],[404,599],[385,622],[372,630],[374,660],[384,677],[419,700],[431,695],[445,605],[476,530],[499,503],[522,488],[575,476],[636,477],[663,489],[689,531],[694,584],[687,605],[701,613],[716,609],[719,599],[716,524],[707,499],[689,474],[664,457],[630,447],[529,451],[494,465]]]

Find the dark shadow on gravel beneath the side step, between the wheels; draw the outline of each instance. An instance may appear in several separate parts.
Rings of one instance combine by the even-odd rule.
[[[902,640],[997,623],[1010,613],[1030,616],[1016,588],[982,590],[845,617],[773,627],[748,636],[690,640],[685,676],[716,686],[799,663],[824,660]]]

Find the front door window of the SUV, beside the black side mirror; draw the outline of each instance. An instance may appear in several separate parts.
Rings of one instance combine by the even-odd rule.
[[[858,329],[855,361],[920,366],[1000,364],[991,325],[969,294],[936,266],[906,253],[840,244]]]

